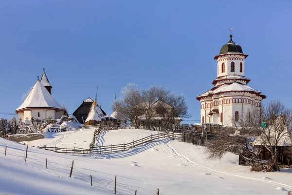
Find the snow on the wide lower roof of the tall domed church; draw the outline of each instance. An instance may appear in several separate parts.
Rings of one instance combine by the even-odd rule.
[[[232,92],[232,91],[254,92],[256,94],[261,93],[260,91],[257,91],[256,89],[250,86],[247,86],[238,82],[233,82],[232,84],[223,84],[219,87],[214,87],[211,90],[198,96],[198,98],[208,96],[209,94],[218,94],[218,93]]]

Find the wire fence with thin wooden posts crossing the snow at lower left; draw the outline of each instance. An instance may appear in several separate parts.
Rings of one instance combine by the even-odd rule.
[[[5,156],[4,156],[4,153],[5,153]],[[49,174],[52,174],[53,176],[57,176],[59,178],[65,178],[65,176],[58,176],[56,175],[56,173],[62,173],[62,175],[68,174],[68,177],[69,177],[71,166],[73,165],[72,161],[68,161],[68,163],[57,163],[45,157],[37,156],[36,152],[27,151],[26,153],[25,150],[20,150],[20,149],[11,148],[11,147],[6,148],[4,146],[0,146],[0,154],[1,154],[0,157],[9,158],[12,161],[15,161],[18,163],[27,164],[30,167],[34,167],[42,171],[46,171]],[[45,155],[45,154],[42,154],[42,155]],[[27,159],[26,159],[26,162],[24,162],[24,159],[26,158],[26,156],[27,156]],[[38,168],[35,166],[42,166],[43,168]],[[81,171],[80,169],[82,168],[73,166],[72,179],[78,179],[84,182],[88,182],[89,185],[91,185],[91,182],[92,182],[92,187],[112,190],[112,191],[115,191],[117,195],[157,195],[157,193],[154,193],[154,192],[147,192],[147,189],[145,188],[119,182],[118,181],[119,176],[117,177],[117,180],[115,180],[114,178],[111,179],[111,178],[100,176],[100,175],[94,175],[94,174],[88,175],[88,174],[83,173],[83,171]],[[50,171],[56,171],[56,172],[53,173]],[[159,193],[158,195],[163,195],[163,194]]]

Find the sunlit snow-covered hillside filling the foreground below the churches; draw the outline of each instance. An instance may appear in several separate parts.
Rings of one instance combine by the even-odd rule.
[[[115,130],[104,132],[98,139],[104,139],[104,145],[119,144],[156,133]],[[48,139],[55,139],[51,143],[56,145],[78,143],[82,146],[83,141],[91,142],[92,135],[93,129],[63,132],[52,136],[54,138],[31,141],[29,146],[33,146],[33,142],[39,142],[35,146],[46,145]],[[157,188],[160,195],[287,195],[292,190],[289,169],[282,169],[281,173],[251,173],[249,167],[237,164],[236,155],[227,154],[217,161],[206,160],[204,147],[168,139],[109,155],[71,156],[29,147],[24,162],[24,154],[24,145],[0,138],[0,194],[111,195],[114,176],[117,176],[117,194],[120,195],[133,195],[134,190],[138,195],[155,195]],[[74,168],[70,178],[72,160]]]

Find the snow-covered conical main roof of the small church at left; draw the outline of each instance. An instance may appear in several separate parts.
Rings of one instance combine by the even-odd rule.
[[[37,79],[36,84],[32,88],[31,92],[21,104],[21,106],[16,109],[16,111],[24,108],[57,108],[63,109],[63,107],[58,104],[58,102],[53,98],[53,96],[48,92],[44,85]]]

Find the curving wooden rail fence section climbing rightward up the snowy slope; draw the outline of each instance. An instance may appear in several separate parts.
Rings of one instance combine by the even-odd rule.
[[[137,146],[152,142],[154,140],[165,139],[167,137],[169,137],[168,133],[164,132],[164,133],[159,133],[159,134],[143,137],[141,139],[134,140],[134,141],[126,143],[126,144],[123,143],[123,144],[108,145],[108,146],[90,147],[89,151],[90,151],[90,153],[97,153],[97,154],[123,152],[123,151],[127,151],[127,150],[129,150],[131,148],[134,148],[134,147],[137,147]]]

